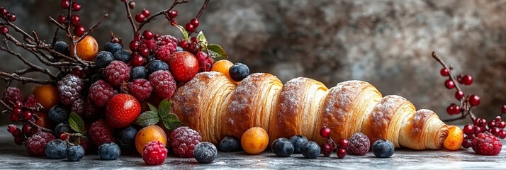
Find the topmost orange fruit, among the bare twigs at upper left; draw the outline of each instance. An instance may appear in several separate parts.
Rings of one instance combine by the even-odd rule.
[[[79,37],[74,37],[74,40]],[[77,57],[81,60],[94,61],[96,54],[99,53],[99,43],[96,42],[95,38],[90,35],[86,35],[80,42],[77,43]],[[74,45],[70,43],[70,55],[74,56]]]

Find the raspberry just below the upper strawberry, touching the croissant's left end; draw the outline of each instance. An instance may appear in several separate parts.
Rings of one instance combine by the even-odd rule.
[[[176,91],[176,81],[169,71],[158,70],[150,75],[154,92],[162,98],[171,98]]]

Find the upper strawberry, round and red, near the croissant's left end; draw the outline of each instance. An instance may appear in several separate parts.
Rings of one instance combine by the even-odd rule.
[[[174,52],[169,58],[169,68],[176,81],[190,81],[198,73],[198,60],[190,52]]]

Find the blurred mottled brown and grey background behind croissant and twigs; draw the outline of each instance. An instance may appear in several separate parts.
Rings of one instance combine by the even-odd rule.
[[[135,2],[134,13],[142,8],[154,13],[172,4],[170,0]],[[81,23],[87,27],[103,13],[111,14],[91,34],[99,44],[110,40],[111,30],[124,42],[133,38],[119,0],[79,3]],[[177,6],[179,24],[189,22],[201,4],[203,0]],[[47,16],[64,13],[59,0],[2,1],[0,6],[16,13],[18,26],[35,30],[46,40],[56,28]],[[506,1],[212,0],[198,30],[222,45],[232,62],[243,62],[252,72],[270,72],[283,82],[310,77],[329,87],[361,79],[383,95],[404,96],[417,108],[449,118],[446,106],[456,100],[454,91],[444,88],[441,67],[430,56],[437,51],[456,68],[455,73],[473,76],[473,85],[463,91],[481,97],[481,105],[473,109],[478,116],[492,118],[506,104],[504,16]],[[145,28],[181,37],[163,17]],[[33,60],[32,55],[23,55]],[[1,71],[24,67],[6,52],[0,52],[0,60]],[[31,86],[23,86],[23,93],[29,94]],[[2,115],[0,123],[8,120]]]

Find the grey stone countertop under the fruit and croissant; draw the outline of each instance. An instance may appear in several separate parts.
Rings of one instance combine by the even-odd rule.
[[[302,154],[280,158],[272,152],[259,155],[218,152],[212,164],[198,164],[195,159],[169,155],[164,164],[147,166],[135,151],[122,152],[114,161],[103,161],[96,154],[88,154],[80,162],[29,157],[25,147],[15,145],[6,127],[1,126],[0,169],[505,169],[505,140],[502,143],[503,151],[491,157],[474,154],[472,149],[456,152],[397,149],[388,159],[376,158],[372,152],[365,156],[347,155],[344,159],[337,159],[335,152],[331,157],[317,159],[305,159]]]

